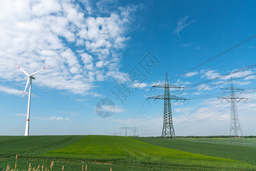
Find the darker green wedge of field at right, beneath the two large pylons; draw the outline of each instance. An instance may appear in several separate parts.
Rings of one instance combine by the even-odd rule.
[[[145,143],[207,156],[230,158],[256,165],[256,139],[245,139],[243,143],[229,139],[156,139],[136,137]]]

